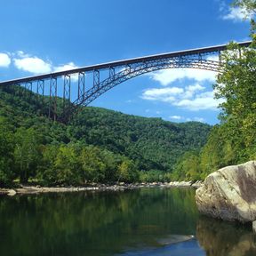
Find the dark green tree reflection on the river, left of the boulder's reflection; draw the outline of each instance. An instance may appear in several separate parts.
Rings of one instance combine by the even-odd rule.
[[[154,246],[166,235],[192,235],[194,196],[192,189],[150,188],[4,197],[0,255],[99,255],[106,248],[113,254],[125,246]]]

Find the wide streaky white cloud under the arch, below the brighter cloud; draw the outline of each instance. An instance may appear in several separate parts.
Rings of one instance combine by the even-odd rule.
[[[215,100],[214,92],[205,90],[206,88],[200,84],[188,85],[185,88],[151,88],[145,90],[141,98],[144,100],[167,102],[172,106],[186,108],[190,111],[204,109],[216,110],[223,100]]]

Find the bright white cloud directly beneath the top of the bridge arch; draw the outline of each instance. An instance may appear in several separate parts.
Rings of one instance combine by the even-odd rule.
[[[193,79],[196,80],[196,82],[214,82],[216,73],[210,70],[192,68],[163,69],[154,72],[150,77],[156,82],[166,86],[184,78]]]

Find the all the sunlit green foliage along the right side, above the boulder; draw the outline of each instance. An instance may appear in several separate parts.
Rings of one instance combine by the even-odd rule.
[[[235,6],[248,14],[256,12],[255,0],[236,0]],[[244,13],[244,15],[246,15]],[[180,158],[172,174],[174,179],[204,179],[209,173],[230,164],[256,159],[256,35],[252,19],[252,44],[241,49],[228,44],[221,53],[222,66],[214,84],[220,104],[220,125],[215,125],[198,156],[194,152]],[[193,167],[194,166],[194,167]],[[193,175],[191,175],[191,173]]]

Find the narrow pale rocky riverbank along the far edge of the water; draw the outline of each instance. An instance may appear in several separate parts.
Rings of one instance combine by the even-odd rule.
[[[124,191],[125,189],[136,188],[199,188],[203,181],[171,181],[171,182],[152,182],[125,184],[123,182],[114,185],[90,184],[86,187],[41,187],[41,186],[22,186],[19,188],[0,188],[0,195],[15,196],[17,194],[38,194],[38,193],[63,193],[78,191]]]

